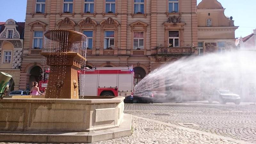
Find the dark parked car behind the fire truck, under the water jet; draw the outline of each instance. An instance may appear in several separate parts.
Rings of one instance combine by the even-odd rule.
[[[154,103],[154,94],[150,90],[136,92],[133,94],[133,102]]]

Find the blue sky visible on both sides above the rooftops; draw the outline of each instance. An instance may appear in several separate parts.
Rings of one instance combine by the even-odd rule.
[[[0,22],[14,19],[24,22],[26,17],[27,0],[0,0]],[[197,0],[199,4],[202,0]],[[218,0],[225,10],[226,16],[232,16],[235,20],[236,37],[248,36],[256,28],[255,5],[256,0]],[[12,7],[10,7],[12,6]],[[253,10],[254,9],[254,10]]]

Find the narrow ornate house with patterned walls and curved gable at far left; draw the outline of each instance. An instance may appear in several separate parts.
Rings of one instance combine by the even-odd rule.
[[[9,91],[19,90],[25,22],[0,23],[0,71],[12,75]]]

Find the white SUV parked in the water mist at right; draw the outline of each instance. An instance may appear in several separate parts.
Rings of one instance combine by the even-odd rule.
[[[209,103],[213,101],[218,101],[220,104],[226,104],[227,102],[234,102],[236,105],[239,105],[241,102],[241,98],[238,94],[230,92],[225,89],[212,90],[210,95],[208,96]]]

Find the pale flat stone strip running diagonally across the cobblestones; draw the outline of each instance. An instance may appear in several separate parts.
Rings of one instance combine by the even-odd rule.
[[[196,133],[199,133],[199,134],[203,134],[203,135],[206,135],[206,136],[209,136],[209,137],[219,138],[219,139],[222,139],[222,140],[228,140],[228,141],[236,142],[236,143],[240,143],[240,144],[253,144],[253,143],[243,141],[243,140],[236,140],[236,139],[233,139],[233,138],[228,138],[228,137],[224,137],[224,136],[217,135],[217,134],[212,134],[212,133],[209,133],[209,132],[202,132],[202,131],[198,131],[198,130],[195,130],[195,129],[191,129],[191,128],[187,128],[187,127],[183,127],[183,126],[179,126],[179,125],[175,125],[175,124],[169,124],[169,123],[165,123],[165,122],[161,122],[161,121],[157,121],[157,120],[153,120],[153,119],[148,119],[148,118],[144,118],[144,117],[140,117],[140,116],[132,115],[132,117],[136,117],[136,118],[139,118],[139,119],[147,120],[147,121],[158,123],[158,124],[168,125],[168,126],[173,127],[173,128],[186,130],[188,132],[196,132]]]

